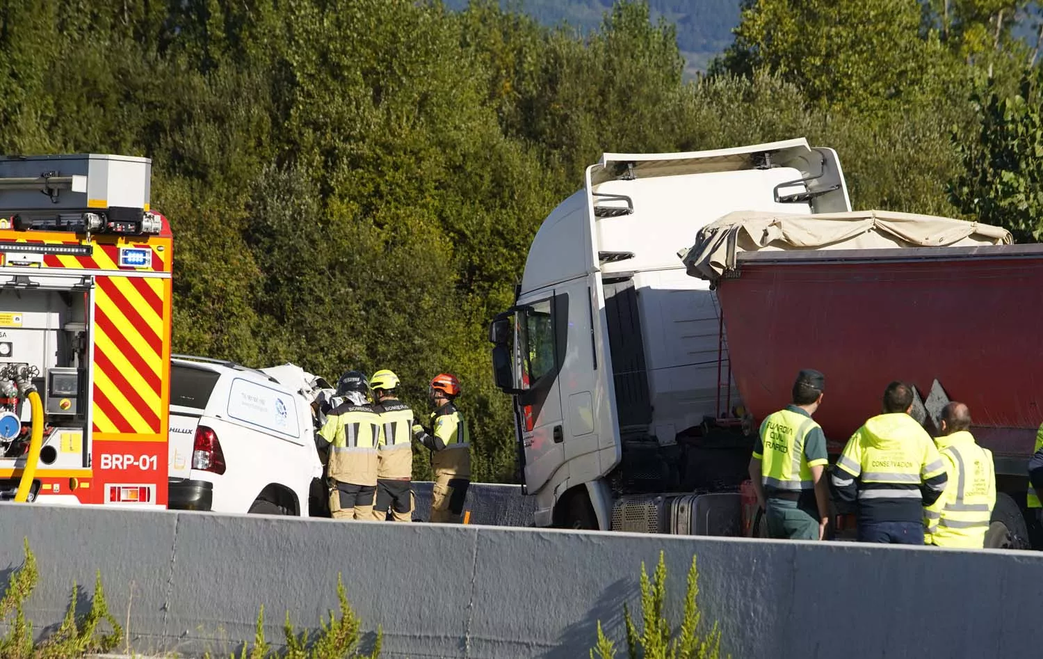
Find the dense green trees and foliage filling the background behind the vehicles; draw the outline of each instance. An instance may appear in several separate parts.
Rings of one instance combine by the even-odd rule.
[[[493,0],[0,0],[0,151],[151,157],[177,351],[391,368],[418,411],[454,372],[476,478],[511,479],[486,324],[586,165],[805,136],[838,150],[856,207],[1032,233],[1021,5],[748,1],[688,83],[675,26],[645,3],[583,37]]]

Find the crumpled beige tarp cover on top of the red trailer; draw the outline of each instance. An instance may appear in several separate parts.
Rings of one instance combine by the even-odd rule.
[[[739,252],[963,248],[1012,242],[1011,232],[1005,229],[936,215],[736,211],[703,227],[696,244],[678,252],[678,256],[688,275],[712,282],[735,268]]]

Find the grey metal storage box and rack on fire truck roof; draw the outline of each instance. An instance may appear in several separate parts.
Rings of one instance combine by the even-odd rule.
[[[43,193],[45,173],[56,181],[50,185],[57,192],[53,202]],[[0,209],[5,213],[110,207],[148,210],[151,179],[152,161],[148,158],[103,154],[3,156]]]

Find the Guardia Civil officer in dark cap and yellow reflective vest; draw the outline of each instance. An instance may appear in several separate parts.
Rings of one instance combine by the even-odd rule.
[[[750,458],[750,479],[771,538],[823,540],[829,490],[823,472],[826,436],[811,415],[822,403],[825,376],[805,369],[793,383],[793,404],[770,415]]]

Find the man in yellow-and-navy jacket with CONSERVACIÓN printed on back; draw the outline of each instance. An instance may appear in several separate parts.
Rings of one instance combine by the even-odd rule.
[[[923,509],[942,495],[948,476],[912,410],[913,389],[888,384],[882,414],[851,436],[833,469],[836,498],[858,505],[859,542],[924,543]]]

